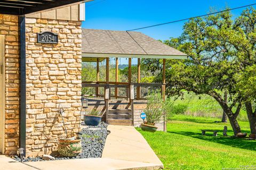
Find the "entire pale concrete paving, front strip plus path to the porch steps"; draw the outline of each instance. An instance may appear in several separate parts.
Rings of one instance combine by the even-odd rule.
[[[97,169],[161,169],[162,162],[147,141],[132,126],[109,125],[102,158],[52,160],[19,163],[0,155],[0,170],[97,170]]]

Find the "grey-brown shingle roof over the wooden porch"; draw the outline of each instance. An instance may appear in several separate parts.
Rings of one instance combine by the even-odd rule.
[[[187,56],[141,32],[82,29],[82,53]]]

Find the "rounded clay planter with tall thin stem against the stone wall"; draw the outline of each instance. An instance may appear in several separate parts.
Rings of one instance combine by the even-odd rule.
[[[60,115],[62,118],[63,128],[65,130],[65,135],[59,139],[58,151],[62,157],[76,157],[82,152],[81,139],[77,139],[75,133],[68,132],[65,122],[63,120],[63,109],[60,109]]]

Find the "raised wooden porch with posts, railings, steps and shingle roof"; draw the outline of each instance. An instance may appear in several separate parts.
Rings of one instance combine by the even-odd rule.
[[[115,58],[115,81],[109,81],[109,58]],[[129,58],[127,82],[118,81],[118,58]],[[137,82],[132,82],[132,58],[138,58]],[[161,83],[140,82],[142,58],[163,60],[163,78]],[[82,29],[82,61],[95,62],[97,69],[96,81],[83,81],[82,87],[95,88],[94,98],[87,98],[89,105],[91,105],[91,108],[103,106],[102,111],[105,112],[106,122],[109,124],[124,125],[124,121],[129,121],[125,125],[137,126],[140,124],[139,115],[146,108],[147,104],[146,98],[141,96],[141,88],[157,87],[161,89],[163,100],[165,100],[166,59],[186,58],[186,54],[141,32]],[[100,81],[99,63],[105,60],[106,80]],[[104,94],[99,93],[99,88],[104,88]],[[115,91],[112,95],[111,88]],[[125,88],[126,95],[120,96],[118,88]],[[123,109],[126,109],[126,111],[123,111]],[[113,115],[113,112],[115,115]],[[130,115],[130,117],[121,118],[117,116],[118,113],[122,114],[124,112]],[[166,130],[165,125],[163,130]]]

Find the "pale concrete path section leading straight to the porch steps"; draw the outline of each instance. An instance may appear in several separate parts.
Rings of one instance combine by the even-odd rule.
[[[133,126],[109,125],[110,134],[102,158],[129,160],[163,166],[142,135]]]

